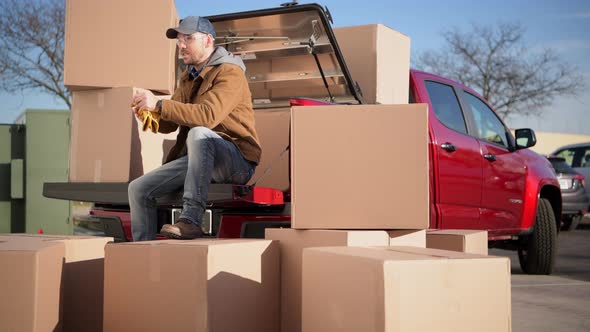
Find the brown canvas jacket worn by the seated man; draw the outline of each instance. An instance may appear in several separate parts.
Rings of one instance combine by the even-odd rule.
[[[236,64],[205,67],[194,80],[185,71],[171,100],[162,100],[160,132],[173,132],[180,125],[166,162],[186,154],[189,129],[203,126],[233,142],[245,159],[258,164],[261,148],[251,99],[244,71]]]

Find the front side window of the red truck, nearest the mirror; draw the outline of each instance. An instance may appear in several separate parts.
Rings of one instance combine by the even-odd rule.
[[[496,116],[496,113],[476,96],[467,92],[464,93],[464,96],[473,113],[477,138],[508,148],[506,127]]]

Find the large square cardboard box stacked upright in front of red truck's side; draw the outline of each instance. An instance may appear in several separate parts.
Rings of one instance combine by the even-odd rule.
[[[426,229],[429,174],[426,104],[292,107],[293,228]]]

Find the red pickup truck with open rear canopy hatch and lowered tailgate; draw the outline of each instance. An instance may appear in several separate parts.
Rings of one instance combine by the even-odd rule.
[[[217,43],[241,54],[248,68],[261,70],[272,63],[274,72],[248,77],[255,111],[363,103],[362,87],[351,77],[329,12],[321,6],[286,6],[209,19],[218,30]],[[305,75],[289,70],[289,63],[307,66]],[[285,70],[277,73],[282,67]],[[419,71],[409,76],[410,103],[429,106],[430,227],[488,230],[491,247],[518,250],[525,272],[551,273],[561,193],[547,159],[527,149],[535,144],[534,132],[517,129],[513,136],[468,87]],[[269,167],[278,166],[271,161]],[[131,240],[127,183],[46,183],[44,195],[94,203],[90,215],[74,218],[77,232]],[[205,228],[211,236],[263,237],[265,228],[290,225],[288,186],[212,185],[209,201]],[[159,205],[160,222],[174,221],[180,196],[163,197]]]

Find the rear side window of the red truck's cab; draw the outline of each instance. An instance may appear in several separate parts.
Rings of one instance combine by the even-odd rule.
[[[433,81],[426,81],[424,83],[428,90],[434,113],[440,122],[453,130],[467,134],[465,118],[463,117],[459,100],[453,88],[450,85]]]

